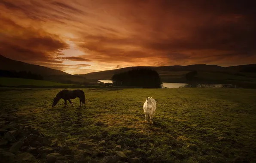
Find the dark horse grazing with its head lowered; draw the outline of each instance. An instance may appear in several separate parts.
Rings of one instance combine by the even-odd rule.
[[[79,97],[80,99],[80,105],[83,103],[85,105],[85,93],[84,91],[77,89],[73,91],[69,91],[67,89],[64,89],[60,91],[55,98],[52,100],[52,107],[55,106],[60,99],[64,99],[65,106],[67,106],[67,100],[69,103],[73,106],[73,103],[70,101],[70,99],[75,99],[76,97]]]

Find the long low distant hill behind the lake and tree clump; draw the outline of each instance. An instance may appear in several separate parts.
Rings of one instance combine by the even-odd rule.
[[[248,74],[256,64],[222,67],[217,65],[195,64],[189,66],[134,66],[80,75],[87,79],[110,80],[112,75],[134,68],[149,68],[158,72],[162,82],[186,82],[186,73],[198,71],[197,78],[202,83],[229,83],[231,81],[256,82],[256,74]],[[246,72],[243,70],[247,70]]]

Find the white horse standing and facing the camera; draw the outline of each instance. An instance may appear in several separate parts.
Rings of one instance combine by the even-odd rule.
[[[146,98],[146,101],[143,105],[144,113],[145,113],[145,121],[148,120],[148,116],[150,118],[150,124],[153,124],[153,118],[155,115],[156,103],[155,99],[152,97]]]

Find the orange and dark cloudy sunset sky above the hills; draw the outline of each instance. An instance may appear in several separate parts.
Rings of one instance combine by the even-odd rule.
[[[0,54],[85,74],[256,63],[248,0],[1,0]]]

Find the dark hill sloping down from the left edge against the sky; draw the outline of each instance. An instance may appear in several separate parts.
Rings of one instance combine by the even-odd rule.
[[[66,72],[57,69],[51,69],[44,66],[35,64],[24,63],[17,60],[12,60],[0,55],[0,69],[15,70],[15,71],[30,71],[32,73],[40,74],[43,76],[47,75],[70,75]]]

